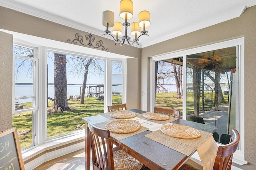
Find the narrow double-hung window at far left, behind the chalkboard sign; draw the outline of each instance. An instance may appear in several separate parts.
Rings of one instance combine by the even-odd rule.
[[[37,110],[36,48],[14,45],[14,104],[13,126],[17,128],[21,149],[36,144]]]

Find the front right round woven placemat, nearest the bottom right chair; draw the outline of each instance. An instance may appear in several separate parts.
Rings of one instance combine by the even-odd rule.
[[[168,136],[180,139],[195,139],[201,136],[201,133],[197,129],[185,125],[164,125],[160,130]]]

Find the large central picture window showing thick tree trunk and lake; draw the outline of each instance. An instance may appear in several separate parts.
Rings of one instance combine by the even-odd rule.
[[[104,112],[104,60],[48,51],[47,138],[79,132]]]

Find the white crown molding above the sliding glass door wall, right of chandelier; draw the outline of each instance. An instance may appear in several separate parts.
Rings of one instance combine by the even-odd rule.
[[[156,43],[161,43],[161,42],[166,41],[168,39],[172,39],[172,38],[175,38],[175,37],[187,34],[187,33],[191,33],[193,31],[197,31],[199,29],[206,28],[206,27],[215,25],[217,23],[221,23],[221,22],[224,22],[224,21],[231,20],[233,18],[237,18],[237,17],[241,16],[244,13],[245,10],[246,10],[246,6],[244,6],[242,8],[238,8],[238,9],[233,10],[231,12],[227,12],[224,15],[220,15],[220,16],[216,16],[216,17],[210,18],[209,20],[202,21],[202,22],[200,22],[200,23],[198,23],[196,25],[192,25],[192,26],[187,27],[185,29],[182,29],[180,31],[176,31],[176,32],[174,32],[172,34],[169,34],[169,35],[166,35],[164,37],[155,39],[154,41],[150,41],[150,42],[144,43],[144,44],[142,44],[142,48],[148,47],[150,45],[154,45]]]

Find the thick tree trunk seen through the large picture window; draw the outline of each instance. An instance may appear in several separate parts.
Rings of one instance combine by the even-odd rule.
[[[54,111],[68,110],[66,55],[54,53]]]

